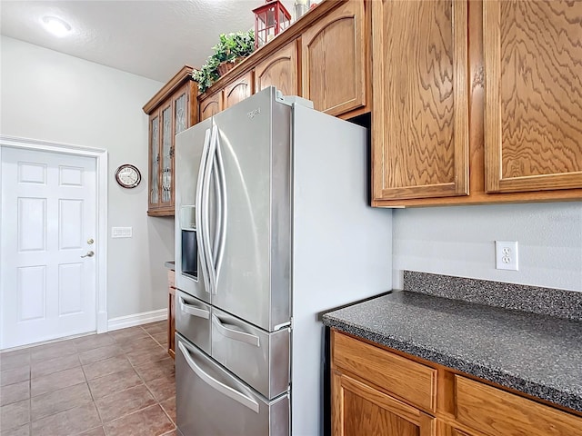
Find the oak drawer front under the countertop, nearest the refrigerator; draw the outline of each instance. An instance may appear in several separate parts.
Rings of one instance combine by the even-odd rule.
[[[417,407],[435,411],[437,370],[337,332],[333,353],[337,367]]]

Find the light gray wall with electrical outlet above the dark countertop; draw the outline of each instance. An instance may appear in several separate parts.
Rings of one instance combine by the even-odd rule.
[[[398,209],[393,286],[402,271],[582,292],[582,202]],[[495,268],[495,241],[517,241],[519,271]]]

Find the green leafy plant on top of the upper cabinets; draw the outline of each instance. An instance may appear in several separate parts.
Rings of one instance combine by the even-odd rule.
[[[246,57],[255,51],[255,31],[221,34],[220,41],[212,47],[214,54],[206,59],[200,69],[192,72],[192,78],[198,83],[198,89],[204,93],[218,80],[218,66],[230,62],[235,63],[239,58]]]

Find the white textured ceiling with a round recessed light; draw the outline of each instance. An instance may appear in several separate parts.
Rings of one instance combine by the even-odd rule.
[[[0,33],[57,52],[166,82],[204,64],[218,35],[246,31],[264,0],[0,1]],[[289,12],[293,0],[284,0]],[[62,38],[40,25],[45,15],[73,28]]]

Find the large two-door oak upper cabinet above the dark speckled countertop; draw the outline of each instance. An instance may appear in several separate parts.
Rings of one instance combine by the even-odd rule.
[[[371,3],[373,205],[582,199],[582,2]]]

